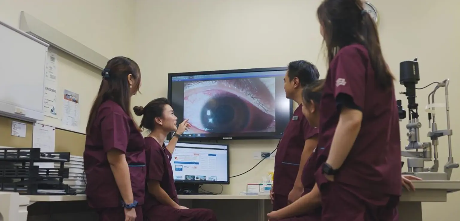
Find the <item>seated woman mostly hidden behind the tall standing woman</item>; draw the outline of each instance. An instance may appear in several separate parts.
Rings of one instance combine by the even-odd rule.
[[[304,88],[302,92],[302,113],[311,126],[319,126],[319,108],[324,87],[324,79],[318,80]],[[270,221],[321,221],[321,194],[315,182],[315,168],[324,162],[325,158],[317,160],[324,148],[315,149],[305,164],[302,173],[304,193],[299,200],[287,207],[273,211],[267,216]],[[420,180],[415,176],[403,176],[402,185],[408,190],[415,190],[411,180]]]

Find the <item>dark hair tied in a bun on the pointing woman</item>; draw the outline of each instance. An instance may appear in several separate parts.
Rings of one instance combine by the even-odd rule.
[[[155,118],[163,116],[163,110],[165,105],[170,105],[168,99],[161,97],[156,98],[149,102],[145,107],[136,106],[133,108],[134,113],[138,116],[142,116],[140,128],[145,128],[147,130],[155,129]]]

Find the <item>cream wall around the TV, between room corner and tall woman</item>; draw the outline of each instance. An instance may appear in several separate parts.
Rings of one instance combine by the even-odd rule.
[[[306,2],[137,0],[134,55],[143,73],[143,94],[133,103],[167,96],[167,74],[174,72],[279,67],[307,59],[319,63],[325,73],[314,15],[319,2]],[[258,162],[253,152],[272,151],[277,142],[231,141],[230,175],[250,169]],[[224,193],[238,194],[246,190],[246,183],[262,181],[273,163],[265,160],[246,175],[232,178]]]

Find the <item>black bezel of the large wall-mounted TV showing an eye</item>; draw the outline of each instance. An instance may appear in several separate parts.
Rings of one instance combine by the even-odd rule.
[[[167,98],[171,102],[172,98],[172,79],[173,77],[190,76],[190,75],[207,75],[207,74],[234,74],[234,73],[246,73],[246,72],[264,72],[264,71],[288,71],[288,67],[276,67],[276,68],[248,68],[248,69],[233,69],[233,70],[217,70],[217,71],[196,71],[196,72],[182,72],[182,73],[169,73],[168,74],[168,91]],[[293,101],[289,99],[289,119],[293,117]],[[204,137],[181,137],[181,141],[220,141],[220,140],[276,140],[281,139],[284,131],[281,135],[272,136],[204,136]],[[170,140],[172,133],[167,136]]]

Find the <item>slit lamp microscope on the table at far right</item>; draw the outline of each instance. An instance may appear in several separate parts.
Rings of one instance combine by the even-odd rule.
[[[417,58],[414,61],[405,61],[399,64],[399,82],[406,88],[405,92],[400,92],[407,96],[408,100],[408,117],[409,122],[406,125],[408,129],[408,145],[405,146],[406,151],[401,151],[401,156],[407,157],[408,172],[403,174],[414,175],[420,177],[423,180],[450,180],[452,170],[458,168],[459,164],[454,163],[452,157],[452,143],[451,136],[452,130],[450,129],[450,117],[449,117],[449,79],[445,79],[442,82],[434,82],[435,88],[428,95],[428,105],[426,106],[426,112],[428,112],[428,128],[431,131],[428,132],[427,136],[430,137],[431,142],[420,142],[420,128],[422,124],[419,122],[418,107],[419,104],[415,102],[415,85],[420,80],[419,74],[419,63]],[[429,86],[429,85],[428,85]],[[426,86],[426,87],[428,87]],[[424,88],[426,88],[424,87]],[[445,91],[445,104],[435,103],[435,93],[438,89],[444,88]],[[420,88],[423,89],[423,88]],[[406,110],[403,109],[402,101],[397,100],[397,107],[399,113],[399,120],[406,118]],[[447,118],[447,129],[439,130],[436,123],[436,112],[435,108],[446,108]],[[438,139],[447,136],[449,157],[447,163],[444,165],[443,172],[438,171],[439,160],[438,160]],[[429,168],[425,167],[425,162],[433,161],[433,165]]]

